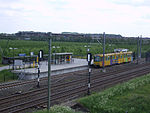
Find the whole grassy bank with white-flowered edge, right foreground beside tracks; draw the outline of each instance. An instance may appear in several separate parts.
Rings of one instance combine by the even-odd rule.
[[[150,74],[81,98],[90,113],[149,113]]]

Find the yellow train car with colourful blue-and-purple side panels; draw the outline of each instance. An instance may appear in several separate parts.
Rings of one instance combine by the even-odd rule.
[[[108,53],[104,55],[104,66],[131,62],[132,60],[133,58],[131,51]],[[103,54],[96,54],[94,56],[94,66],[103,67]]]

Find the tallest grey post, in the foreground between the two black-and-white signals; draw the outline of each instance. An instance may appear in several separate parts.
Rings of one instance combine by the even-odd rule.
[[[51,39],[49,39],[49,55],[48,55],[48,103],[47,109],[50,110],[50,81],[51,81]]]

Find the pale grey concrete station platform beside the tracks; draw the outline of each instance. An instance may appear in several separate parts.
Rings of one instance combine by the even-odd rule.
[[[48,76],[48,62],[40,62],[40,78]],[[79,70],[88,69],[88,62],[86,59],[73,58],[72,62],[67,64],[51,64],[51,76],[57,74],[63,74],[68,72],[74,72]],[[36,79],[38,77],[38,68],[28,68],[21,70],[14,70],[21,80]]]

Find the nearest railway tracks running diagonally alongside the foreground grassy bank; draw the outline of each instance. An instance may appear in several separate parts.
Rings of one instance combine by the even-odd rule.
[[[142,68],[140,66],[142,66]],[[113,73],[103,73],[103,75],[99,75],[99,71],[92,72],[91,91],[97,91],[98,89],[103,89],[113,84],[126,81],[128,79],[141,76],[150,72],[149,64],[144,64],[140,66],[134,66],[132,71],[127,71],[129,70],[129,68],[123,68],[118,71],[113,71]],[[80,80],[68,81],[56,85],[52,84],[51,101],[52,104],[68,101],[81,95],[85,95],[86,92],[87,77],[84,77]],[[26,109],[42,105],[46,103],[46,101],[47,87],[44,87],[30,92],[26,92],[24,94],[13,95],[0,99],[0,112],[23,112]]]

